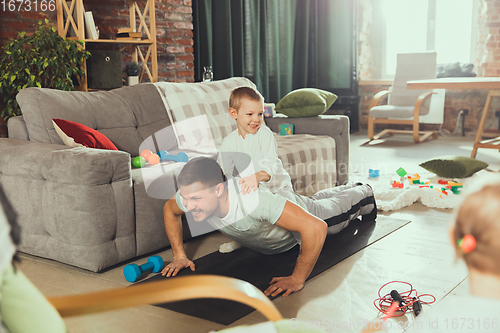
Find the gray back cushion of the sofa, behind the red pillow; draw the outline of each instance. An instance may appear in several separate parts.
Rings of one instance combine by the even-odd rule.
[[[65,119],[95,129],[119,150],[138,155],[144,139],[170,126],[163,101],[153,84],[95,92],[27,88],[16,98],[31,141],[63,144],[52,119]],[[170,144],[170,149],[177,146],[176,142]]]

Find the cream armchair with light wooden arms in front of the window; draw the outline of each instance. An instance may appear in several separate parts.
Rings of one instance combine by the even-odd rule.
[[[368,138],[377,140],[386,134],[412,134],[415,143],[423,142],[435,131],[420,131],[419,125],[442,124],[445,90],[408,90],[406,82],[436,78],[436,52],[399,53],[396,76],[389,90],[379,92],[373,97],[368,115]],[[383,96],[388,96],[387,105],[378,105]],[[432,98],[429,101],[429,97]],[[375,124],[411,125],[412,130],[384,129],[374,135]]]

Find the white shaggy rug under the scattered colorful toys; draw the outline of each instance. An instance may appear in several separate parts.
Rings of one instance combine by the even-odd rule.
[[[410,206],[415,202],[421,202],[424,206],[433,208],[455,208],[460,204],[460,194],[453,194],[451,191],[446,191],[448,193],[448,195],[446,195],[441,191],[437,191],[436,188],[441,189],[446,186],[439,184],[439,179],[454,180],[458,183],[464,184],[464,187],[465,179],[437,177],[435,174],[428,171],[406,171],[410,177],[415,173],[418,173],[420,179],[422,181],[430,181],[430,185],[433,186],[433,188],[420,188],[419,185],[410,185],[408,183],[408,179],[404,180],[403,188],[393,188],[391,181],[400,181],[400,177],[396,174],[396,172],[391,175],[380,175],[377,178],[370,178],[368,175],[352,174],[350,175],[349,180],[370,184],[373,188],[373,193],[375,194],[377,208],[382,211],[398,210],[403,207]]]

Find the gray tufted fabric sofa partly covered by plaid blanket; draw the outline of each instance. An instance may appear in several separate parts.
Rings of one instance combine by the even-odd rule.
[[[225,81],[227,91],[237,86],[231,79],[219,82]],[[23,116],[10,118],[9,137],[0,139],[0,183],[19,214],[20,251],[98,272],[169,245],[163,226],[167,198],[148,195],[143,171],[131,167],[131,156],[171,126],[164,97],[155,84],[90,93],[21,90]],[[55,118],[97,129],[119,151],[65,146],[52,125]],[[333,138],[335,182],[347,181],[347,117],[266,118],[273,131],[283,122],[294,124],[296,134]],[[163,149],[179,151],[173,133],[164,141]]]

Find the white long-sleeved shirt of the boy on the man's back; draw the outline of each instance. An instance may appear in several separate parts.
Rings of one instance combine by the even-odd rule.
[[[238,129],[224,138],[219,148],[218,162],[228,177],[233,176],[236,167],[239,177],[248,177],[256,172],[265,171],[271,176],[267,182],[260,182],[272,193],[292,191],[292,181],[276,151],[278,144],[269,127],[262,125],[257,133],[247,134],[245,138],[238,134]],[[251,158],[252,163],[244,158]]]

